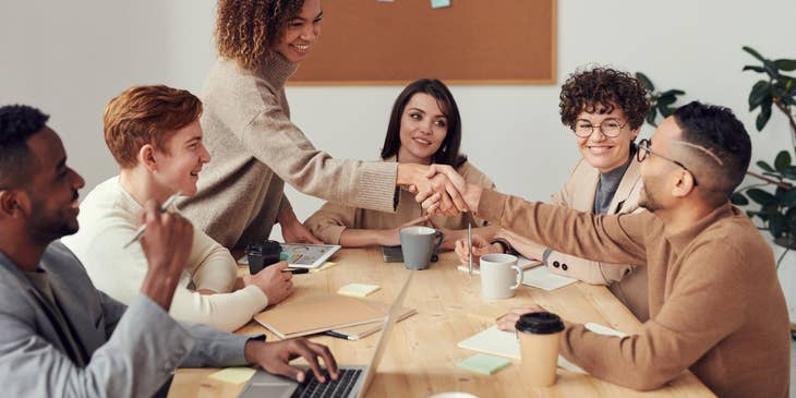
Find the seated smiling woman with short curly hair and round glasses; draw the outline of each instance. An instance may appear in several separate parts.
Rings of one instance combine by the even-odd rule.
[[[628,73],[593,68],[570,75],[562,87],[560,117],[582,159],[551,203],[594,214],[636,212],[641,178],[634,142],[649,107],[643,84]],[[504,229],[491,239],[473,237],[472,245],[474,257],[516,251],[555,274],[606,285],[641,322],[649,318],[646,267],[578,258]],[[467,241],[457,241],[456,251],[466,261]]]

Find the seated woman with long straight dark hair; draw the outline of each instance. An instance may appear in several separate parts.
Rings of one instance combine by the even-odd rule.
[[[393,106],[387,135],[382,148],[385,162],[449,165],[468,182],[494,189],[495,184],[472,166],[459,152],[461,145],[461,118],[459,108],[448,87],[435,79],[421,79],[410,83]],[[396,213],[384,213],[326,203],[304,225],[325,243],[348,248],[367,245],[398,245],[398,230],[417,224],[430,224],[443,230],[443,248],[453,249],[457,238],[465,233],[468,222],[483,227],[484,221],[472,213],[456,217],[429,216],[413,194],[401,191]],[[490,227],[478,228],[490,233]]]

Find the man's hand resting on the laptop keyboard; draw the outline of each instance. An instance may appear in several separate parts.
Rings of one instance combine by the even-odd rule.
[[[326,383],[326,377],[318,364],[318,358],[321,358],[331,379],[337,379],[337,362],[335,361],[335,357],[331,355],[329,348],[304,338],[274,342],[250,340],[246,342],[244,357],[246,362],[256,363],[268,373],[282,375],[303,383],[305,377],[304,372],[301,369],[291,366],[289,363],[292,359],[302,357],[310,364],[312,372],[315,374],[315,378],[321,383]]]

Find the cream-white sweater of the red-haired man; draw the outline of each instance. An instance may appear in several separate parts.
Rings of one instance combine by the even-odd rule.
[[[62,239],[81,263],[97,289],[122,303],[140,296],[148,263],[141,244],[124,243],[135,236],[143,207],[119,184],[119,177],[97,185],[81,203],[81,229]],[[194,230],[191,253],[174,291],[169,314],[178,321],[210,325],[233,331],[268,305],[268,298],[256,286],[232,291],[238,265],[229,251],[201,230]],[[191,291],[208,289],[219,294]]]

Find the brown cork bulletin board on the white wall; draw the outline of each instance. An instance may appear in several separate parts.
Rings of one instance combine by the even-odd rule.
[[[555,84],[556,0],[326,0],[291,85]]]

